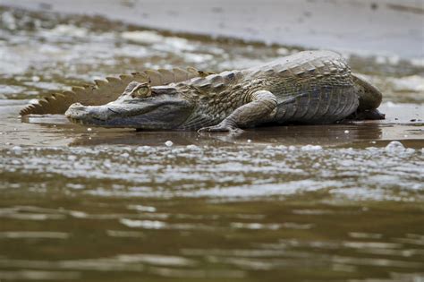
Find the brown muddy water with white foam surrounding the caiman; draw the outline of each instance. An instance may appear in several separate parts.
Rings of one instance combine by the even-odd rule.
[[[420,62],[345,54],[384,90],[385,122],[207,136],[21,123],[29,101],[81,81],[300,48],[0,12],[0,280],[424,279]]]

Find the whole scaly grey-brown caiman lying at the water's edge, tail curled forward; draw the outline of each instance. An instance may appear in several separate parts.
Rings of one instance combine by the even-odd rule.
[[[159,70],[72,88],[21,110],[89,126],[230,132],[262,124],[384,119],[382,94],[342,56],[304,51],[244,70]]]

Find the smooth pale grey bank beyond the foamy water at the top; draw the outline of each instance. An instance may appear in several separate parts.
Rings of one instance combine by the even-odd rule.
[[[399,4],[401,3],[401,4]],[[424,57],[420,1],[4,0],[30,11],[99,15],[148,29],[266,44],[328,48],[365,56]],[[158,8],[160,7],[160,8]],[[405,48],[407,47],[407,48]]]

